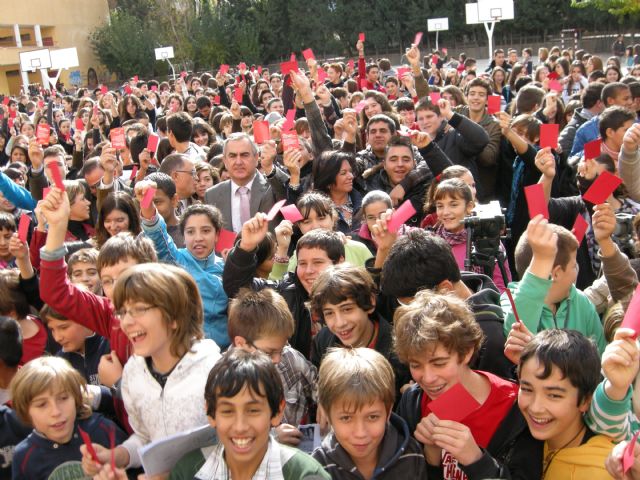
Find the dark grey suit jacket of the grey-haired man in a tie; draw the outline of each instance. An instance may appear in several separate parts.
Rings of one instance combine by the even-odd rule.
[[[275,170],[275,174],[271,178],[256,172],[256,177],[251,186],[251,200],[249,203],[252,217],[258,212],[269,212],[277,201],[286,198],[284,185],[288,180],[288,175],[277,167]],[[222,213],[224,228],[232,231],[231,180],[225,180],[207,190],[204,195],[204,201],[208,205],[218,207]],[[273,228],[275,228],[275,224],[271,222],[270,229],[273,230]]]

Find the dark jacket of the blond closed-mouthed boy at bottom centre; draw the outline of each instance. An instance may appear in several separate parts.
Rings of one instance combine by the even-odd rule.
[[[411,437],[407,422],[395,413],[389,418],[379,452],[378,464],[371,480],[427,478],[427,462],[422,448]],[[313,452],[313,458],[325,468],[333,480],[364,480],[333,433]]]

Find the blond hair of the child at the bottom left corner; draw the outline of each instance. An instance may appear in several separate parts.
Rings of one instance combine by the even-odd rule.
[[[20,420],[32,425],[29,407],[44,392],[68,392],[76,404],[76,416],[88,418],[91,407],[85,402],[87,382],[75,368],[60,357],[40,357],[26,363],[11,381],[13,408]]]

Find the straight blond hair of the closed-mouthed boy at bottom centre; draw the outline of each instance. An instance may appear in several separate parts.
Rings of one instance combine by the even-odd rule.
[[[322,358],[318,403],[327,414],[338,401],[357,411],[381,400],[389,412],[395,391],[391,364],[372,348],[330,348]]]

